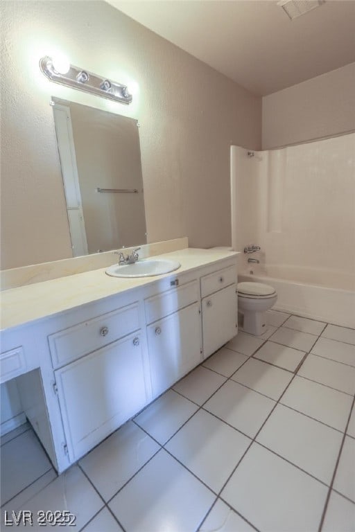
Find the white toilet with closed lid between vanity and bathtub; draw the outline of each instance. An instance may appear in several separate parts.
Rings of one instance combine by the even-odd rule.
[[[238,310],[243,312],[243,330],[262,335],[267,329],[266,310],[275,305],[277,293],[261,283],[238,283]]]

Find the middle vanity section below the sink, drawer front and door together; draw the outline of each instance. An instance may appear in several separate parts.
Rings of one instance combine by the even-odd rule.
[[[147,326],[147,337],[156,397],[202,362],[198,280],[146,299],[145,308],[147,323],[154,320]]]

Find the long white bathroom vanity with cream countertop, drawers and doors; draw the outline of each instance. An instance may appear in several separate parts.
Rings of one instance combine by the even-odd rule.
[[[237,332],[236,256],[180,249],[180,269],[105,268],[2,292],[1,382],[62,472]],[[112,261],[113,262],[113,261]]]

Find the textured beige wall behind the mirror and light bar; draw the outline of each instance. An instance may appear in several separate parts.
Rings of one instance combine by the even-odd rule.
[[[137,118],[148,241],[230,244],[230,145],[261,148],[261,98],[104,2],[3,1],[2,267],[71,256],[51,96]],[[138,84],[129,108],[49,82],[43,55]]]

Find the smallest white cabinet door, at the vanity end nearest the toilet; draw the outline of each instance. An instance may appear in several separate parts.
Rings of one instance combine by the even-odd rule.
[[[209,357],[237,331],[236,285],[202,299],[203,357]]]

